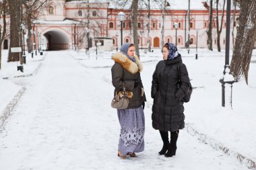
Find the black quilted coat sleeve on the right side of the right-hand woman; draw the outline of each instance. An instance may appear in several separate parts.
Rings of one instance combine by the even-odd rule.
[[[179,79],[181,81],[181,85],[180,85],[179,89],[177,90],[175,96],[177,97],[177,99],[179,99],[179,101],[181,101],[181,99],[183,99],[183,97],[185,96],[187,91],[189,91],[190,80],[189,80],[189,73],[187,72],[186,65],[181,64],[179,69],[180,69],[180,78]]]

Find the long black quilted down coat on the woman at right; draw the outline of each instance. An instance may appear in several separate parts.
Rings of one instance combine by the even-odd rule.
[[[178,65],[181,83],[179,85]],[[152,126],[156,130],[174,132],[183,129],[185,116],[183,99],[189,90],[189,75],[181,55],[173,60],[161,60],[153,74],[151,97]],[[178,86],[179,85],[179,86]]]

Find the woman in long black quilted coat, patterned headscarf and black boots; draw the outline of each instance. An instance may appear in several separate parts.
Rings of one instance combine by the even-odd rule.
[[[163,59],[156,65],[152,80],[152,126],[160,131],[164,143],[159,155],[172,157],[176,154],[179,130],[185,126],[182,99],[189,90],[190,81],[181,54],[174,44],[164,44]]]

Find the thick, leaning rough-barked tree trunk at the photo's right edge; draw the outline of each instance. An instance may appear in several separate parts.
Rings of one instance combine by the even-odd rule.
[[[251,54],[256,38],[256,1],[241,1],[239,27],[234,45],[230,71],[236,81],[245,76],[248,85],[248,72]]]

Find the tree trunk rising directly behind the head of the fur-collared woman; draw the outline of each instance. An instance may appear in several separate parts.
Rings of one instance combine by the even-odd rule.
[[[139,57],[139,44],[138,44],[138,33],[137,33],[138,1],[139,0],[133,0],[133,42],[135,46],[135,53]],[[141,40],[142,40],[142,37],[141,37]]]

